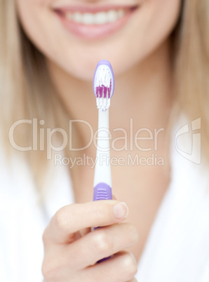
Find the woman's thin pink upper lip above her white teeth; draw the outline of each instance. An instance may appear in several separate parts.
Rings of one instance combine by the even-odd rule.
[[[55,6],[53,7],[54,11],[60,11],[62,13],[70,13],[70,12],[81,12],[81,13],[98,13],[101,11],[109,11],[109,10],[130,10],[137,8],[138,5],[105,5],[105,6],[97,6],[93,4],[89,5],[78,5],[78,6]]]

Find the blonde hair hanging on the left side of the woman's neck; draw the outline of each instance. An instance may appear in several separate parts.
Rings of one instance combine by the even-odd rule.
[[[37,119],[39,134],[40,120],[45,121],[47,128],[67,130],[69,116],[50,81],[44,56],[29,41],[18,22],[15,1],[0,0],[0,14],[1,139],[11,155],[11,152],[18,154],[8,140],[9,128],[15,121]],[[22,147],[31,145],[32,130],[29,131],[27,125],[18,128],[15,142]],[[29,151],[19,157],[26,158],[41,192],[48,167],[46,150]]]

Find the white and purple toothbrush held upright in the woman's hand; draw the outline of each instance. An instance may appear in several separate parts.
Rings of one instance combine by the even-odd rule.
[[[93,90],[98,109],[97,159],[93,182],[93,201],[112,200],[112,176],[109,154],[109,106],[114,93],[114,72],[112,65],[107,60],[100,60],[97,64],[93,79]],[[98,262],[108,258],[104,257]]]

